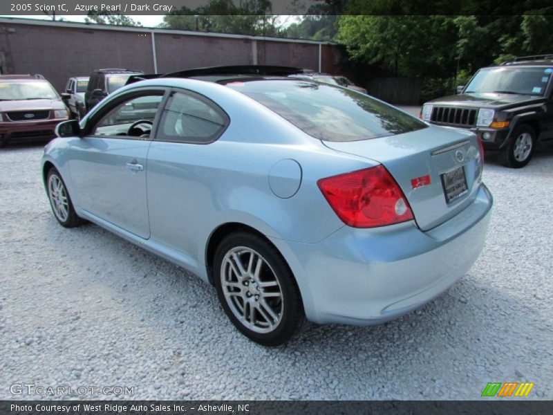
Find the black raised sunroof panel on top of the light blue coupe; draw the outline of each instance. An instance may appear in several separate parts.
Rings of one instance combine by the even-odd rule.
[[[144,75],[131,75],[125,85],[143,80],[153,80],[160,77],[195,77],[208,75],[270,75],[288,76],[296,73],[304,73],[310,69],[294,68],[293,66],[276,65],[236,65],[236,66],[209,66],[207,68],[186,69],[171,73],[152,73]]]

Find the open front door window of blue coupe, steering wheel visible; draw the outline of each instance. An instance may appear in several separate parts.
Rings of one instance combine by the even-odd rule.
[[[163,98],[162,91],[133,98],[116,104],[91,129],[92,136],[119,136],[121,138],[149,138],[153,120]]]

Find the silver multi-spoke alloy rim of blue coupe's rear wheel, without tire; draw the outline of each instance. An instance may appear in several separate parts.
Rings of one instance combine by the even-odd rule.
[[[234,316],[256,333],[270,333],[282,320],[283,295],[271,266],[252,248],[238,246],[221,264],[221,287]]]

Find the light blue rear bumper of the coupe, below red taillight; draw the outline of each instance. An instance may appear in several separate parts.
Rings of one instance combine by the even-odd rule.
[[[318,323],[378,324],[437,297],[465,275],[484,246],[493,201],[475,201],[437,228],[413,221],[344,226],[319,243],[272,239],[297,277],[306,315]]]

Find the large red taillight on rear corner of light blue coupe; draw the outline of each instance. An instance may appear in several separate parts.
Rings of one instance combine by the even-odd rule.
[[[317,185],[338,217],[354,228],[413,219],[400,186],[382,165],[321,178]]]

